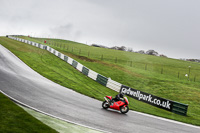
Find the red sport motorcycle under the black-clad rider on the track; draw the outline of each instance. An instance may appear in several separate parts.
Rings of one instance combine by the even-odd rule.
[[[122,101],[117,101],[117,102],[114,102],[113,104],[112,103],[112,96],[106,96],[104,97],[105,101],[102,103],[102,107],[104,109],[108,109],[108,108],[111,108],[111,109],[115,109],[115,110],[120,110],[120,112],[122,114],[125,114],[129,111],[129,107],[128,107],[128,99],[126,97],[124,97],[124,99]]]

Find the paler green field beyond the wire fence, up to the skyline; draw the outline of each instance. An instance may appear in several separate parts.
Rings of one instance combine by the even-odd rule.
[[[23,37],[26,38],[26,37]],[[200,63],[186,62],[164,57],[155,57],[133,52],[124,52],[105,48],[91,47],[88,45],[59,39],[26,38],[29,40],[47,44],[60,51],[65,51],[77,56],[87,57],[98,61],[115,64],[126,69],[141,71],[144,73],[162,74],[164,79],[188,80],[185,74],[189,74],[190,81],[200,82]],[[43,43],[44,44],[44,43]],[[160,77],[159,77],[160,78]]]

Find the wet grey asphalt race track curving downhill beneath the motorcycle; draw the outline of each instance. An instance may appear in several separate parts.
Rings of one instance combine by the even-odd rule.
[[[200,132],[197,126],[134,111],[123,115],[118,111],[104,110],[101,101],[81,95],[42,77],[1,45],[0,90],[43,112],[107,132]]]

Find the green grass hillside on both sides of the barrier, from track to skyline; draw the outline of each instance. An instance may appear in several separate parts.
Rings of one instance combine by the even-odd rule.
[[[44,41],[42,38],[23,38],[40,43]],[[106,77],[159,97],[189,104],[187,116],[129,98],[131,109],[200,125],[199,63],[96,48],[67,40],[46,40],[54,49]],[[41,75],[65,87],[99,100],[103,100],[105,95],[117,94],[87,78],[48,51],[5,37],[0,38],[0,44]],[[186,73],[189,74],[188,66],[191,66],[189,81],[188,77],[185,77]]]

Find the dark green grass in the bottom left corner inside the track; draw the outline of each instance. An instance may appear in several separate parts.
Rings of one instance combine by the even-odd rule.
[[[0,93],[1,133],[56,133]]]

